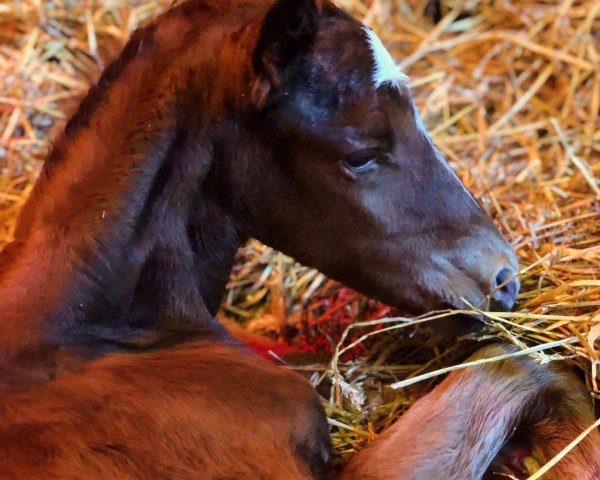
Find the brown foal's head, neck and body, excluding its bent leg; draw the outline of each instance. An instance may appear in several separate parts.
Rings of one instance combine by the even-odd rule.
[[[84,100],[0,260],[2,478],[327,478],[314,392],[213,317],[249,236],[405,310],[518,290],[372,32],[189,0]]]

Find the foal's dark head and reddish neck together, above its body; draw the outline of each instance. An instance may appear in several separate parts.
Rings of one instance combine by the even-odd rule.
[[[251,236],[405,311],[518,289],[371,31],[329,2],[189,0],[133,35],[23,209],[0,260],[5,389],[227,341],[213,315]]]

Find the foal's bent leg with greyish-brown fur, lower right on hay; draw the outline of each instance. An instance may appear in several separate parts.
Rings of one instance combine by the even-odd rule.
[[[510,351],[490,346],[473,359]],[[457,371],[419,400],[339,480],[476,480],[513,438],[546,461],[595,420],[580,381],[559,365],[517,357]],[[520,444],[519,444],[520,442]],[[514,451],[509,457],[514,458]],[[600,434],[592,432],[544,478],[600,479]]]

